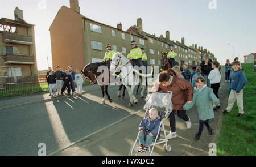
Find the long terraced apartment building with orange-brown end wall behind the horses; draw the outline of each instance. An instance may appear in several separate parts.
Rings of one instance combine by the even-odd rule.
[[[88,63],[101,62],[106,52],[106,44],[112,45],[115,52],[130,53],[130,41],[135,40],[138,47],[143,47],[147,54],[147,62],[151,65],[160,65],[161,52],[166,52],[171,45],[176,52],[179,63],[196,65],[196,50],[189,48],[184,43],[170,40],[170,31],[166,36],[156,37],[143,31],[142,19],[137,19],[137,24],[127,31],[122,29],[122,23],[112,27],[104,23],[86,18],[80,14],[78,0],[70,0],[70,8],[62,6],[57,12],[51,27],[52,65],[66,68],[82,68]],[[179,56],[180,55],[180,56]],[[182,56],[181,56],[182,55]]]

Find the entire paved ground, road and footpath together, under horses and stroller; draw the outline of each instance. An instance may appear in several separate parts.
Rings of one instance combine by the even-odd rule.
[[[222,78],[221,109],[214,112],[215,118],[209,122],[213,135],[208,135],[204,127],[200,140],[193,139],[199,127],[194,106],[187,110],[191,129],[175,114],[177,138],[168,140],[171,152],[163,151],[163,144],[158,144],[153,155],[208,155],[209,144],[218,142],[220,111],[226,107],[227,89],[228,83]],[[98,85],[83,87],[82,97],[51,99],[49,93],[37,93],[1,100],[0,155],[38,155],[39,143],[46,144],[46,155],[128,155],[144,117],[145,101],[135,95],[139,103],[128,107],[127,91],[124,100],[117,98],[117,91],[118,87],[109,87],[113,102],[106,98],[105,105],[101,104]],[[168,119],[164,126],[168,134]]]

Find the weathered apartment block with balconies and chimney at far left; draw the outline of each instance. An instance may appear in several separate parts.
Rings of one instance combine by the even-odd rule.
[[[32,82],[37,79],[35,32],[14,10],[15,19],[0,19],[0,84]]]

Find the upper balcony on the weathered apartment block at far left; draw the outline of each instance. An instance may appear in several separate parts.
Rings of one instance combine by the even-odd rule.
[[[23,44],[23,45],[32,45],[33,40],[32,36],[21,35],[10,32],[2,32],[2,39],[5,43],[14,43],[14,44]]]

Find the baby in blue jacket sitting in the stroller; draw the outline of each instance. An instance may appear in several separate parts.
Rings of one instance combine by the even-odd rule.
[[[149,116],[149,117],[148,117]],[[149,115],[142,119],[139,124],[139,152],[148,152],[152,140],[158,134],[161,118],[158,116],[158,110],[152,108],[149,110]],[[146,136],[146,140],[144,140]],[[145,143],[145,144],[144,144]]]

